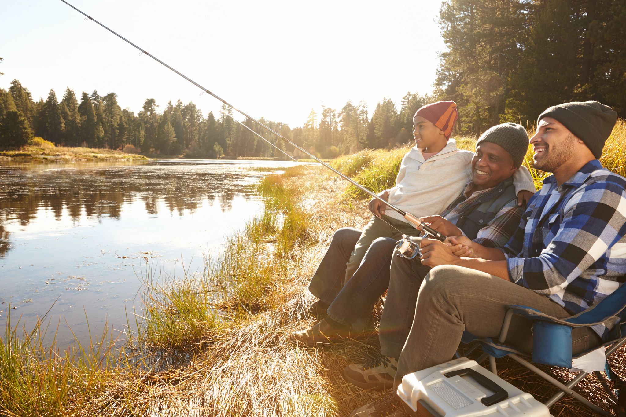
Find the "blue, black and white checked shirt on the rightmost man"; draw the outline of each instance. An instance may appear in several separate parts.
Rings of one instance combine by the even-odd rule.
[[[546,178],[503,249],[511,281],[572,314],[619,288],[626,274],[625,187],[626,179],[597,159],[561,186]],[[603,337],[613,324],[593,329]]]

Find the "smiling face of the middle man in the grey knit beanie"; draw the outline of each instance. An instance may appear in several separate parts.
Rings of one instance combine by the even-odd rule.
[[[478,189],[495,187],[515,173],[510,154],[500,145],[481,142],[471,159],[472,181]]]

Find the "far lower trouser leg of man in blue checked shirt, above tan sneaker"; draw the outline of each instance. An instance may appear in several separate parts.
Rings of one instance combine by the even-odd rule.
[[[419,287],[428,275],[430,268],[419,262],[419,256],[405,259],[394,256],[391,259],[391,276],[385,308],[382,309],[379,339],[381,354],[398,359],[409,335],[415,316],[415,303]]]

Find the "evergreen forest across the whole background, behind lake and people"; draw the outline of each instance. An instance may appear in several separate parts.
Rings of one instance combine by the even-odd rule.
[[[341,109],[311,110],[297,128],[260,121],[312,153],[335,158],[408,143],[414,112],[436,100],[456,101],[455,133],[464,135],[504,121],[532,124],[544,109],[567,101],[597,100],[621,116],[625,24],[626,0],[445,0],[439,27],[446,49],[431,96],[409,92],[399,104],[384,98],[373,110],[347,101]],[[160,111],[151,98],[135,114],[121,109],[116,93],[94,90],[79,98],[69,87],[60,100],[51,89],[48,98],[34,101],[14,79],[8,91],[0,89],[0,148],[19,148],[39,136],[61,146],[189,158],[282,156],[250,129],[272,143],[277,138],[232,116],[225,106],[204,115],[180,100]],[[292,151],[282,141],[276,146]]]

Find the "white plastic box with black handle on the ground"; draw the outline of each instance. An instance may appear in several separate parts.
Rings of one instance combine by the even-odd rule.
[[[468,358],[405,375],[398,396],[418,417],[550,416],[531,394]]]

